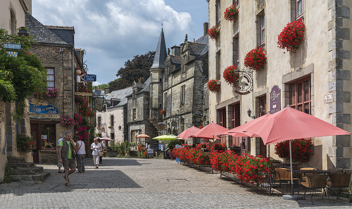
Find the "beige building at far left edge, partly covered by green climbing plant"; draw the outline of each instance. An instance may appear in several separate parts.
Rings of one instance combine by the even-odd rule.
[[[16,29],[25,27],[25,13],[32,13],[31,0],[3,0],[0,7],[0,27],[9,34],[17,34]],[[28,103],[28,101],[26,101]],[[27,104],[28,105],[28,104]],[[4,168],[7,163],[7,156],[24,157],[27,162],[33,162],[31,153],[24,153],[17,150],[16,134],[24,133],[30,135],[30,123],[26,111],[20,123],[13,120],[12,113],[15,111],[15,103],[0,102],[0,146],[5,155],[0,157],[0,182],[4,177]],[[6,146],[5,146],[6,143]]]

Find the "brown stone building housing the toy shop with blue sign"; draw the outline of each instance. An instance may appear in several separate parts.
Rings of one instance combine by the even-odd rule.
[[[66,131],[74,133],[73,126],[65,128],[60,122],[63,116],[73,117],[75,109],[78,109],[74,104],[74,93],[78,91],[74,71],[82,65],[83,57],[81,50],[74,48],[74,27],[44,26],[29,13],[25,17],[28,32],[38,43],[32,45],[29,52],[36,54],[46,68],[48,88],[58,90],[56,98],[30,99],[30,130],[37,141],[33,161],[55,164],[57,140]],[[45,111],[33,111],[40,107]]]

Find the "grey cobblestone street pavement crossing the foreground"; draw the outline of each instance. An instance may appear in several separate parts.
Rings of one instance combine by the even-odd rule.
[[[70,175],[71,187],[55,165],[44,166],[51,176],[41,184],[2,184],[0,208],[352,208],[346,200],[329,203],[321,193],[306,200],[284,200],[278,192],[241,186],[219,174],[162,159],[93,159],[86,172]]]

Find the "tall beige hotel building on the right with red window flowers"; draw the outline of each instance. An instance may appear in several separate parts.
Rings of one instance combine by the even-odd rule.
[[[236,4],[239,10],[234,22],[224,19],[227,7]],[[209,27],[218,25],[218,37],[209,40],[209,79],[220,83],[218,93],[209,92],[209,120],[231,129],[274,111],[270,104],[273,88],[279,93],[276,109],[285,106],[304,111],[348,132],[351,126],[351,26],[352,1],[345,0],[208,0]],[[278,9],[280,8],[280,9]],[[306,31],[296,53],[284,53],[278,48],[278,34],[288,22],[302,19]],[[248,77],[249,88],[241,92],[228,85],[222,77],[225,67],[238,65],[247,70],[244,58],[247,52],[263,46],[267,62],[264,69]],[[251,79],[253,79],[251,81]],[[280,90],[281,89],[281,90]],[[324,97],[330,96],[331,101]],[[274,145],[264,146],[260,138],[246,139],[241,150],[239,138],[223,141],[252,155],[278,159]],[[314,138],[314,155],[308,164],[319,169],[351,170],[351,137],[331,136]]]

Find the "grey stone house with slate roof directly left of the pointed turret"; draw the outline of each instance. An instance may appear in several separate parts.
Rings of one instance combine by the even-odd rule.
[[[146,81],[143,78],[134,81],[132,85],[132,94],[126,96],[128,99],[127,107],[127,133],[129,141],[135,143],[137,148],[138,142],[150,144],[151,138],[157,135],[157,129],[149,120],[150,110],[150,85],[151,77]],[[151,138],[136,138],[139,134],[146,134]]]

